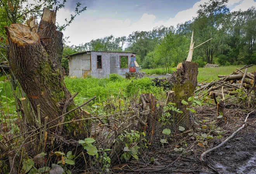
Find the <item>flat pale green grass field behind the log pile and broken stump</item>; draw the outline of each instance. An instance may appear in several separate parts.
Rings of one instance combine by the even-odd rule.
[[[218,75],[228,75],[233,73],[237,68],[241,68],[243,65],[232,65],[232,66],[220,66],[219,68],[199,68],[197,80],[202,81],[209,78],[207,81],[212,81],[213,79],[218,79]],[[176,68],[171,68],[171,72],[175,71]],[[248,72],[253,72],[256,70],[256,65],[248,68]],[[165,68],[156,68],[156,69],[141,69],[146,74],[166,74]],[[243,70],[244,71],[244,70]],[[170,72],[170,73],[171,73]]]

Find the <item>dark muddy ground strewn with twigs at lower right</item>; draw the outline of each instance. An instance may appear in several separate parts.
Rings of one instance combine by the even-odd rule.
[[[250,110],[253,111],[253,110]],[[203,152],[211,149],[240,128],[249,111],[242,110],[233,106],[225,110],[225,119],[217,120],[215,125],[221,130],[225,130],[221,139],[212,139],[206,145],[197,144],[192,137],[185,137],[187,147],[186,151],[174,152],[174,145],[165,146],[152,151],[145,151],[141,158],[132,160],[121,167],[116,167],[114,173],[170,173],[170,174],[256,174],[256,112],[252,113],[247,120],[247,125],[240,130],[233,139],[227,142],[219,149],[206,155],[208,166],[200,162],[200,156]],[[204,106],[197,108],[195,122],[202,119],[216,120],[216,107]],[[201,130],[202,131],[202,130]],[[202,133],[193,131],[193,133]],[[205,130],[207,132],[207,130]],[[213,133],[214,134],[214,133]],[[189,138],[188,138],[189,137]],[[178,144],[176,144],[178,145]],[[150,159],[154,157],[154,162]]]

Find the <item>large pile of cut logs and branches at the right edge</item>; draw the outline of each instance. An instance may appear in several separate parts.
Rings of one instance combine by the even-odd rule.
[[[254,90],[255,93],[255,71],[252,73],[247,72],[247,68],[251,66],[253,64],[245,65],[240,69],[237,68],[236,71],[229,75],[218,75],[220,79],[217,81],[214,79],[210,83],[203,83],[206,79],[197,84],[199,88],[195,90],[195,93],[199,91],[197,94],[199,95],[202,91],[207,90],[208,96],[213,96],[215,93],[215,96],[220,96],[221,98],[225,94],[237,95],[239,93],[236,91],[237,89],[248,93]],[[245,71],[242,71],[242,69],[245,69]]]

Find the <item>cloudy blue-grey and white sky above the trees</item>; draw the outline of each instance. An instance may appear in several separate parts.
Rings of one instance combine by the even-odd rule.
[[[208,0],[67,0],[65,8],[57,12],[56,20],[65,23],[74,14],[76,3],[86,6],[82,14],[63,31],[69,36],[68,45],[79,45],[109,35],[128,36],[133,31],[149,31],[164,25],[176,27],[192,20],[198,6]],[[256,0],[229,0],[231,11],[247,10],[256,6]]]

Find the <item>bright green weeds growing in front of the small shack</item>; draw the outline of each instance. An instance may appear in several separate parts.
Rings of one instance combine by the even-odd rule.
[[[125,100],[130,100],[131,97],[138,97],[141,93],[153,93],[156,99],[160,100],[165,95],[163,88],[154,86],[150,78],[125,79],[121,76],[101,79],[65,78],[64,82],[71,94],[78,92],[78,96],[74,99],[76,104],[82,104],[95,95],[95,100],[88,105],[101,103],[109,97],[122,96]]]

